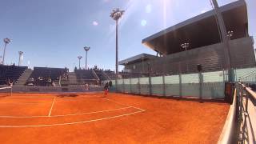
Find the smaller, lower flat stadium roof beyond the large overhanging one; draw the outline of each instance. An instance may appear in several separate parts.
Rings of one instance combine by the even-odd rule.
[[[142,60],[148,60],[151,58],[156,58],[156,56],[151,54],[138,54],[138,55],[135,55],[134,57],[126,58],[125,60],[118,62],[118,64],[126,66],[127,64],[142,62]]]

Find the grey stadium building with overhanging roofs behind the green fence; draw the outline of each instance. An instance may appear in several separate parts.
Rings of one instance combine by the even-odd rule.
[[[254,40],[248,34],[245,1],[232,2],[220,7],[229,38],[230,66],[246,68],[255,66]],[[142,40],[160,57],[138,54],[119,62],[131,73],[178,74],[225,69],[225,45],[217,24],[214,10],[170,26]],[[186,43],[186,47],[181,45]]]

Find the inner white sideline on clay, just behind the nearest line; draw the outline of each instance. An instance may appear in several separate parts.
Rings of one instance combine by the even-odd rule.
[[[123,109],[129,109],[133,108],[130,106],[127,107],[122,107],[118,109],[112,109],[112,110],[101,110],[101,111],[93,111],[93,112],[88,112],[88,113],[78,113],[78,114],[63,114],[63,115],[50,115],[50,116],[45,116],[45,115],[38,115],[38,116],[5,116],[1,115],[0,118],[54,118],[54,117],[65,117],[65,116],[74,116],[74,115],[85,115],[85,114],[97,114],[97,113],[103,113],[103,112],[108,112],[108,111],[114,111],[114,110],[123,110]]]

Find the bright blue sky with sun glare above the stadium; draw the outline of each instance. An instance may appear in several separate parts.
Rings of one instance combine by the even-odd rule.
[[[234,0],[218,0],[220,6]],[[256,36],[256,1],[246,0],[250,35]],[[142,39],[211,10],[209,0],[0,0],[0,55],[3,38],[11,38],[6,63],[23,66],[78,66],[84,46],[90,46],[88,65],[114,70],[115,27],[110,12],[126,10],[120,21],[119,60],[135,54],[155,54]],[[254,38],[255,39],[255,38]],[[256,42],[256,41],[255,41]],[[120,70],[122,67],[120,67]]]

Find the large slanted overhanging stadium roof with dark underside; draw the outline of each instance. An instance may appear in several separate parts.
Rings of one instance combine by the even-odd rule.
[[[248,36],[246,2],[243,0],[221,6],[220,10],[226,30],[234,31],[231,39]],[[188,49],[221,42],[214,10],[190,18],[142,40],[142,43],[160,54],[174,54],[182,51],[181,44],[188,42]]]

